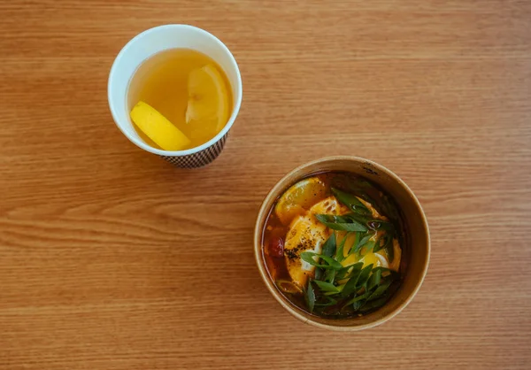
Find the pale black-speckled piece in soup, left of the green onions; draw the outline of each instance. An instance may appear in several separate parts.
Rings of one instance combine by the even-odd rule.
[[[338,214],[348,212],[346,207],[339,204],[335,197],[327,197],[305,212],[304,216],[297,216],[286,236],[284,256],[289,276],[298,286],[304,287],[309,277],[313,276],[315,266],[308,260],[301,258],[304,252],[320,253],[322,243],[332,234],[319,220],[316,214]]]

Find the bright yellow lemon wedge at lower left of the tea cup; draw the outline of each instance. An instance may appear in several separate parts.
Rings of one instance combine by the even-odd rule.
[[[130,113],[135,125],[163,150],[183,150],[191,143],[181,130],[150,104],[138,102]]]

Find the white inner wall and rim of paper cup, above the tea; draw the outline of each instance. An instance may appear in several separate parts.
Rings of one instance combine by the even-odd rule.
[[[161,51],[176,48],[192,49],[202,52],[214,59],[227,75],[227,79],[232,88],[234,102],[232,107],[233,112],[226,127],[221,130],[216,138],[225,135],[230,126],[229,124],[235,119],[235,114],[237,113],[236,105],[241,101],[241,80],[238,67],[235,63],[235,58],[227,47],[215,36],[200,28],[187,25],[160,26],[144,31],[140,35],[136,35],[135,38],[128,42],[119,52],[118,57],[112,65],[112,70],[109,76],[108,94],[112,116],[116,124],[129,140],[145,150],[164,151],[156,149],[152,150],[152,147],[147,143],[144,143],[140,135],[135,131],[133,122],[129,118],[131,107],[127,102],[129,83],[135,75],[135,71],[148,58]],[[198,150],[203,146],[204,145],[198,147]]]

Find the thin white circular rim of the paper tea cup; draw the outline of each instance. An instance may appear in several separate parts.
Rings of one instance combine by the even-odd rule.
[[[127,50],[130,49],[134,43],[139,42],[142,39],[142,37],[146,35],[150,35],[151,33],[154,33],[154,32],[158,32],[165,28],[174,28],[174,29],[189,28],[189,29],[194,30],[195,32],[198,32],[200,34],[203,34],[207,37],[212,38],[214,42],[218,43],[221,49],[227,52],[227,56],[230,60],[230,64],[235,69],[236,86],[232,88],[235,89],[235,91],[240,92],[240,94],[237,96],[237,99],[234,104],[234,108],[232,110],[232,114],[230,118],[228,119],[227,124],[225,125],[225,127],[223,127],[221,131],[219,131],[218,135],[215,135],[214,137],[212,137],[211,140],[209,140],[208,142],[204,144],[201,144],[199,146],[196,146],[194,148],[187,149],[187,150],[161,150],[161,149],[153,148],[147,143],[142,142],[142,140],[132,135],[129,135],[126,132],[126,130],[122,129],[122,127],[118,124],[117,122],[118,114],[115,111],[115,107],[114,107],[114,104],[112,104],[112,99],[111,99],[111,91],[113,89],[113,81],[114,81],[113,76],[116,71],[116,68],[118,68],[119,62],[121,61],[122,58],[124,58],[124,54],[127,52]],[[184,24],[169,24],[169,25],[157,26],[157,27],[146,29],[145,31],[142,31],[140,34],[135,35],[135,37],[129,40],[129,42],[127,42],[126,45],[121,50],[119,50],[118,55],[112,62],[111,72],[109,73],[109,80],[107,82],[107,100],[109,101],[109,108],[111,109],[112,119],[114,120],[114,123],[119,128],[119,130],[122,132],[122,134],[125,135],[127,139],[129,139],[129,141],[134,143],[136,146],[138,146],[139,148],[142,148],[143,150],[149,151],[150,153],[158,154],[160,156],[165,156],[165,157],[188,156],[190,154],[197,153],[201,150],[205,150],[211,147],[213,144],[219,142],[219,140],[221,140],[221,138],[227,134],[228,130],[230,130],[230,128],[235,123],[236,116],[238,115],[238,112],[240,112],[240,106],[242,105],[242,75],[240,73],[240,69],[238,68],[238,64],[236,63],[235,57],[232,55],[230,50],[228,50],[225,43],[221,42],[218,37],[216,37],[215,35],[212,35],[210,32],[205,31],[204,29],[199,28],[199,27],[184,25]]]

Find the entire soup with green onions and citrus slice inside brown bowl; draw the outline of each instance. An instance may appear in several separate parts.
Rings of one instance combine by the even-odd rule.
[[[277,288],[319,316],[342,318],[381,307],[401,281],[402,224],[393,207],[380,189],[348,173],[298,181],[266,223],[269,256],[278,257],[278,241],[285,240],[284,258],[267,262]]]

